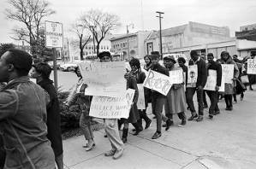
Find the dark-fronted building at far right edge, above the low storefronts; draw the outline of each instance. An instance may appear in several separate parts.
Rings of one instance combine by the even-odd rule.
[[[256,41],[256,24],[240,26],[240,32],[235,32],[235,37]]]

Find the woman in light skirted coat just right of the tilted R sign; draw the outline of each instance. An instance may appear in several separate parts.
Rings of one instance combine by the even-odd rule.
[[[176,60],[174,56],[169,55],[164,57],[164,67],[168,69],[168,71],[177,71],[182,70],[180,67],[176,67]],[[167,131],[170,128],[170,125],[172,122],[172,116],[173,114],[178,114],[179,119],[182,119],[181,125],[186,125],[186,96],[185,96],[185,90],[184,90],[184,84],[174,84],[170,88],[167,99],[164,104],[165,108],[165,114],[168,118],[166,120],[166,128]]]

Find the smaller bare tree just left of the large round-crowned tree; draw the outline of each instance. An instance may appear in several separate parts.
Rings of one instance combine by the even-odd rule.
[[[86,36],[86,34],[88,34],[88,33],[85,34],[86,27],[81,25],[79,23],[79,21],[76,21],[76,23],[73,24],[71,27],[72,28],[71,28],[70,31],[74,32],[77,35],[77,38],[78,38],[78,40],[74,40],[72,42],[72,44],[74,46],[77,46],[77,44],[78,44],[79,50],[80,50],[80,60],[82,61],[82,60],[84,60],[84,52],[83,51],[85,49],[86,44],[88,44],[88,42],[90,42],[91,35]]]

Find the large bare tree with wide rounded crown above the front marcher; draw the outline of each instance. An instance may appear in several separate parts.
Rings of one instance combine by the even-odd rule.
[[[121,26],[119,17],[109,13],[102,12],[98,9],[91,9],[80,18],[83,26],[92,32],[97,43],[97,55],[99,53],[99,45],[105,38],[107,33]]]

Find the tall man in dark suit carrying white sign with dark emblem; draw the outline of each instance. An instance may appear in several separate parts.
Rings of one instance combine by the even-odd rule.
[[[199,55],[195,50],[192,50],[190,52],[190,56],[191,56],[191,59],[188,62],[188,65],[189,66],[197,65],[198,78],[195,84],[187,84],[187,102],[188,102],[188,107],[190,108],[190,111],[191,111],[191,117],[188,120],[193,120],[197,118],[196,121],[202,121],[204,116],[203,91],[204,91],[204,87],[207,79],[206,64],[205,64],[205,61],[199,57]],[[193,95],[195,91],[197,93],[199,115],[196,114],[195,108],[193,105]]]

